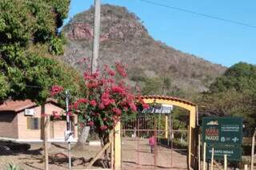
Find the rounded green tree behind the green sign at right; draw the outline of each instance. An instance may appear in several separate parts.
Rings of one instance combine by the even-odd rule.
[[[200,112],[210,116],[241,116],[256,127],[256,65],[239,62],[218,77],[202,94]]]

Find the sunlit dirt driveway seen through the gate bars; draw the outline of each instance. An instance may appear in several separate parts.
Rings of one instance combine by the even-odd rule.
[[[122,169],[186,169],[186,153],[157,145],[150,152],[147,139],[122,140]]]

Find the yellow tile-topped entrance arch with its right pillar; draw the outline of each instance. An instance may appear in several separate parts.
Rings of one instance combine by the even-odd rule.
[[[156,103],[156,104],[167,104],[167,105],[175,105],[186,109],[190,112],[190,124],[188,126],[189,132],[189,140],[187,145],[187,167],[188,169],[198,168],[198,135],[197,135],[197,105],[190,101],[186,101],[180,99],[178,97],[170,97],[170,96],[142,96],[142,100],[146,104]]]

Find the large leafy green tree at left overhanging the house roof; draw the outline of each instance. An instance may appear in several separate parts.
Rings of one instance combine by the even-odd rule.
[[[58,28],[69,0],[0,1],[0,101],[30,98],[42,102],[52,85],[72,93],[78,73],[58,59],[64,38]]]

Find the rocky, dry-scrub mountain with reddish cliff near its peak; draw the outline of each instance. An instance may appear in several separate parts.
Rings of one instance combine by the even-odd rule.
[[[92,55],[93,24],[94,13],[90,8],[62,29],[68,39],[63,59],[81,70],[85,69],[83,59]],[[202,92],[226,70],[222,65],[155,41],[135,14],[120,6],[102,6],[100,42],[99,65],[122,61],[128,65],[130,79],[134,81],[170,77],[170,89]]]

